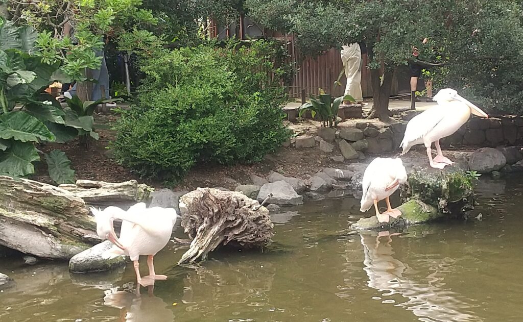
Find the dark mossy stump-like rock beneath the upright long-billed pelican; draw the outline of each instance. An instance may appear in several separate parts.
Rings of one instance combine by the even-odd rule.
[[[474,209],[474,175],[461,169],[414,171],[408,175],[401,195],[404,202],[415,199],[434,206],[439,212],[462,217]]]

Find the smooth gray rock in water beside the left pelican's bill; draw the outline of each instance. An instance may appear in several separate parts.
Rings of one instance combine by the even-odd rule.
[[[69,261],[69,271],[73,273],[102,272],[113,268],[122,267],[126,264],[123,256],[104,259],[102,255],[112,248],[113,244],[106,240],[89,249],[76,254]]]

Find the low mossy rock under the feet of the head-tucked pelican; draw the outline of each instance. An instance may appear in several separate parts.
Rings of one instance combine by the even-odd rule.
[[[396,208],[401,211],[402,215],[398,218],[390,217],[388,223],[380,223],[376,215],[370,218],[360,218],[350,228],[356,230],[389,230],[395,229],[402,231],[409,225],[426,223],[445,217],[445,214],[439,212],[434,206],[428,205],[423,201],[409,200]]]

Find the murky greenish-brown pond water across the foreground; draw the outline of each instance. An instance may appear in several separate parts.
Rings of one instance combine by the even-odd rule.
[[[140,295],[126,291],[131,264],[84,275],[0,258],[16,280],[0,293],[0,321],[522,321],[519,181],[481,181],[482,221],[380,238],[350,234],[360,217],[351,197],[284,209],[263,253],[222,251],[191,270],[175,265],[185,248],[169,244],[155,257],[168,280]]]

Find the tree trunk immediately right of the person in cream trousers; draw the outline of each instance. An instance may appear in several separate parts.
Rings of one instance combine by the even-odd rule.
[[[367,118],[378,117],[382,121],[389,120],[389,97],[392,89],[393,75],[393,72],[385,70],[383,77],[381,77],[380,70],[370,70],[373,106]]]

